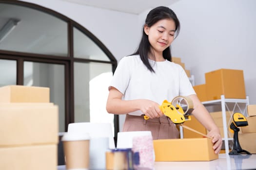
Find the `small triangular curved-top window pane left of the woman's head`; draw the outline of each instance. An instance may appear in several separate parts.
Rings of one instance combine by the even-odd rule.
[[[77,28],[74,31],[74,57],[110,61],[108,56],[87,35]]]

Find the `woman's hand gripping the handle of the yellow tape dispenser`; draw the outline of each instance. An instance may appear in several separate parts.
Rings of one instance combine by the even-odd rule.
[[[153,102],[146,99],[139,100],[140,111],[148,116],[150,119],[159,118],[163,116],[157,102]]]

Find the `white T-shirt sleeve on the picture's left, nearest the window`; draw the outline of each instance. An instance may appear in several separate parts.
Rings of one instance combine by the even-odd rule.
[[[123,57],[118,63],[118,67],[113,75],[112,81],[108,89],[113,86],[117,88],[118,91],[120,91],[122,94],[124,94],[127,86],[129,85],[131,66],[131,57]]]

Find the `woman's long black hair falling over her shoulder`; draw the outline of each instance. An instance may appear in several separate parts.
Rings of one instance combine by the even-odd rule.
[[[151,27],[152,25],[154,25],[161,19],[172,19],[175,22],[175,34],[176,34],[175,37],[177,37],[179,30],[180,30],[179,20],[178,20],[176,14],[173,12],[173,10],[171,10],[168,7],[159,6],[159,7],[152,9],[146,17],[144,26],[146,25],[148,27]],[[144,26],[143,26],[143,28],[144,28]],[[139,55],[143,64],[151,72],[155,72],[148,60],[148,55],[150,53],[152,53],[152,51],[150,51],[150,47],[151,47],[151,45],[148,40],[148,35],[145,34],[144,29],[142,29],[142,37],[141,37],[138,49],[132,55]],[[163,58],[167,59],[168,61],[172,61],[171,46],[169,48],[166,48],[163,51]]]

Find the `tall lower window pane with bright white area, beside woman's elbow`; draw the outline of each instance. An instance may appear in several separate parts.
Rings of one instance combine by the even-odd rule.
[[[104,63],[74,63],[75,122],[112,124],[114,115],[106,111],[112,65]]]

